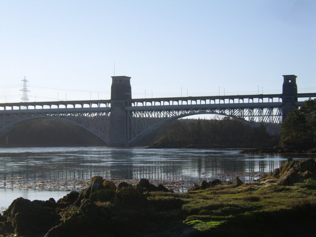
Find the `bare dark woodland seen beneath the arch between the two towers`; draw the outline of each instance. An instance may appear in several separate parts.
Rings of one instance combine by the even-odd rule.
[[[214,119],[179,119],[167,126],[151,147],[257,147],[279,143],[264,125],[216,115]]]

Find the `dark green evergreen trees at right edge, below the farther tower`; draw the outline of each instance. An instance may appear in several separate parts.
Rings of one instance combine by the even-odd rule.
[[[284,119],[281,131],[282,145],[316,147],[316,99],[305,101]]]

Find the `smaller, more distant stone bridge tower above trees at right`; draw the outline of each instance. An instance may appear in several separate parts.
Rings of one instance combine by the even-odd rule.
[[[283,75],[283,92],[282,92],[282,121],[295,109],[297,98],[297,85],[295,75]]]

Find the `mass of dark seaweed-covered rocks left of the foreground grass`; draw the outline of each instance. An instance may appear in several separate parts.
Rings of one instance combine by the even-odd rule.
[[[0,216],[0,235],[125,236],[136,227],[142,229],[147,223],[143,217],[154,210],[143,191],[168,190],[147,179],[139,182],[138,189],[126,182],[117,188],[112,181],[94,176],[80,193],[70,192],[57,202],[18,198]]]

